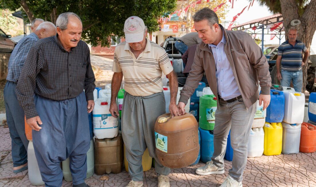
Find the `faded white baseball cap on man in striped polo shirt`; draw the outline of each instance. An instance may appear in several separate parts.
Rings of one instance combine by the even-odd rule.
[[[145,24],[144,21],[137,17],[127,18],[124,24],[125,40],[127,43],[141,42],[144,39]]]

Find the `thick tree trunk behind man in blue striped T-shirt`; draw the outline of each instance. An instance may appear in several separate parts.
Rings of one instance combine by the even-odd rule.
[[[301,21],[301,24],[295,26],[298,30],[297,40],[302,41],[308,50],[310,50],[310,46],[312,43],[313,35],[316,30],[316,0],[311,0],[307,5],[305,12],[302,16],[298,13],[298,7],[296,5],[295,0],[280,0],[281,3],[281,13],[283,15],[283,26],[285,28],[285,33],[288,32],[288,29],[293,27],[291,25],[291,21],[294,19],[298,19]],[[287,37],[286,37],[287,39]],[[307,84],[307,69],[308,69],[308,61],[303,65],[303,87],[302,92],[304,93],[306,90]]]

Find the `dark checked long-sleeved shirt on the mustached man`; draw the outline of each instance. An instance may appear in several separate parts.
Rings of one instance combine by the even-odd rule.
[[[37,41],[27,55],[18,79],[17,97],[26,118],[38,116],[34,93],[61,101],[77,97],[85,90],[86,99],[93,99],[94,73],[90,51],[84,41],[67,52],[58,35]]]

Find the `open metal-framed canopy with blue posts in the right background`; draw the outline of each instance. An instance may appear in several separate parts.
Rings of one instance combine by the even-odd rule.
[[[270,29],[267,29],[268,25],[272,27],[274,24],[279,23],[279,22],[283,22],[283,16],[282,14],[275,14],[272,16],[267,16],[267,17],[255,19],[249,22],[245,22],[240,25],[236,25],[232,27],[232,30],[242,30],[242,31],[246,30],[247,33],[249,34],[262,34],[261,49],[263,52],[264,51],[264,35],[275,34],[276,37],[279,39],[279,45],[281,44],[281,39],[285,35],[283,23],[281,23],[272,32],[270,31]],[[255,30],[252,29],[254,27],[256,27]]]

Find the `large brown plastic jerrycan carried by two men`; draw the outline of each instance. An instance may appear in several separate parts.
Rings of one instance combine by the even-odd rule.
[[[200,150],[194,115],[159,116],[155,124],[155,145],[159,162],[164,166],[183,168],[194,163]]]

